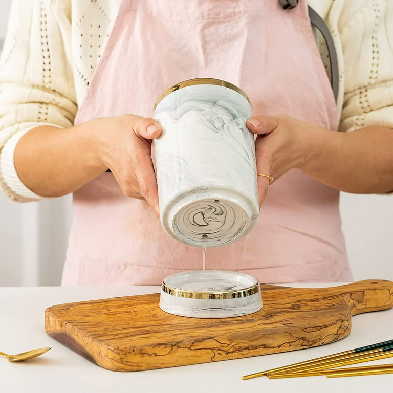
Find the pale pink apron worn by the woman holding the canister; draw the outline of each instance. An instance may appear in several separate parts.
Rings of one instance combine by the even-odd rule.
[[[277,0],[122,0],[75,123],[152,116],[164,90],[197,77],[239,86],[254,114],[337,128],[304,0],[293,10]],[[338,191],[290,170],[269,188],[250,234],[207,250],[207,268],[260,282],[350,281],[338,203]],[[77,190],[73,204],[62,285],[154,285],[202,269],[202,249],[174,241],[147,202],[122,194],[112,173]]]

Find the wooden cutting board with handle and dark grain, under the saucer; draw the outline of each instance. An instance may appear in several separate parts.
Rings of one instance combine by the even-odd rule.
[[[159,308],[159,294],[150,294],[54,305],[45,312],[45,328],[104,368],[138,371],[330,343],[351,332],[351,316],[393,304],[393,282],[386,280],[261,290],[263,308],[241,317],[178,317]]]

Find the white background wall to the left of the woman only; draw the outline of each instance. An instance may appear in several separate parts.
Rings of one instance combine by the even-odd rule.
[[[0,45],[10,4],[0,0]],[[0,286],[59,285],[71,215],[70,196],[18,204],[0,194]]]

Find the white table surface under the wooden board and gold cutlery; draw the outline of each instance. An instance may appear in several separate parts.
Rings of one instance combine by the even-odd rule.
[[[165,390],[170,393],[392,391],[393,374],[332,379],[324,376],[280,380],[261,377],[247,381],[243,381],[241,377],[393,339],[393,309],[353,317],[350,335],[329,345],[246,359],[129,373],[101,368],[45,333],[44,312],[51,305],[154,292],[159,292],[159,287],[0,288],[0,351],[17,354],[33,348],[52,347],[41,357],[26,362],[12,363],[0,358],[0,390],[51,393],[149,393]],[[385,363],[393,363],[393,359],[363,365]]]

